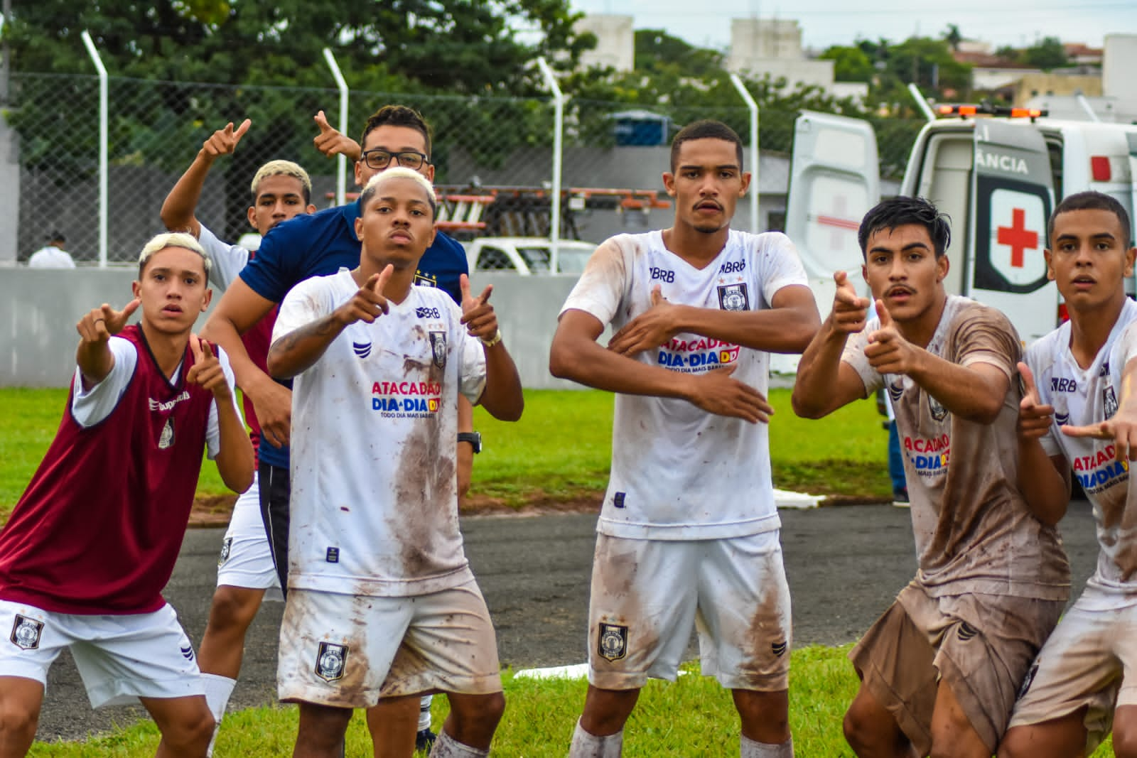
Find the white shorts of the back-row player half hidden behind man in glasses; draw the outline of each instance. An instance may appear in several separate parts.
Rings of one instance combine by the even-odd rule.
[[[284,600],[265,534],[265,522],[260,517],[260,489],[256,474],[252,475],[252,486],[236,499],[225,540],[221,543],[217,586],[223,585],[265,590],[265,600]]]

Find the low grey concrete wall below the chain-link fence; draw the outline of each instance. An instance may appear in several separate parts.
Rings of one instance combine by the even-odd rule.
[[[0,386],[66,386],[75,368],[75,322],[90,308],[131,299],[133,268],[74,270],[0,268]],[[475,291],[493,284],[492,302],[506,344],[533,389],[576,386],[549,375],[557,314],[575,277],[480,273]],[[219,293],[214,293],[215,299]],[[198,328],[205,317],[198,319]]]

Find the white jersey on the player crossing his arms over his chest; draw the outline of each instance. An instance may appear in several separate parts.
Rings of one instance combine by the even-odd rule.
[[[674,303],[721,310],[771,307],[783,286],[808,286],[785,234],[731,231],[719,256],[695,268],[669,251],[662,232],[621,234],[597,248],[564,309],[619,330],[652,307],[652,290]],[[769,353],[680,333],[636,359],[703,374],[736,366],[733,378],[763,394]],[[617,394],[612,477],[598,531],[653,540],[744,536],[780,526],[765,424],[716,416],[673,398]]]

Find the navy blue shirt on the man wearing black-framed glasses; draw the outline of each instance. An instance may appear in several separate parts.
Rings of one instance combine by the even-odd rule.
[[[334,274],[359,265],[359,238],[355,219],[359,201],[294,216],[277,224],[260,241],[260,249],[241,272],[241,281],[266,300],[280,302],[289,290],[306,278]],[[468,274],[466,251],[442,232],[426,248],[415,272],[415,284],[438,286],[462,305],[458,277]],[[291,386],[291,382],[287,382]],[[288,468],[288,447],[274,448],[260,436],[260,460]]]

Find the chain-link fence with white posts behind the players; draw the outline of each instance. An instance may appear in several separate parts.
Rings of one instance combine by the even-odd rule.
[[[99,81],[94,76],[13,74],[0,140],[18,156],[18,177],[0,183],[18,208],[17,259],[26,260],[53,231],[80,261],[98,260]],[[246,209],[256,169],[275,158],[296,160],[313,180],[313,202],[333,202],[337,164],[313,147],[313,116],[337,125],[334,89],[215,85],[110,77],[108,140],[108,260],[130,261],[161,231],[166,193],[215,130],[252,122],[233,156],[214,165],[198,217],[222,239],[250,231]],[[399,102],[432,124],[435,184],[457,234],[547,236],[555,110],[551,98],[457,98],[360,92],[349,95],[349,134],[366,117]],[[781,228],[795,113],[761,115],[760,225]],[[562,235],[598,241],[609,234],[670,223],[659,175],[670,138],[696,118],[717,118],[749,143],[749,113],[735,108],[657,108],[568,99],[565,105]],[[882,169],[894,175],[919,124],[893,124],[881,141]],[[878,133],[883,134],[880,130]],[[897,157],[901,157],[897,159]],[[747,160],[749,158],[747,157]],[[349,190],[352,183],[348,170]],[[740,208],[736,225],[748,227]],[[473,219],[473,220],[471,220]],[[462,223],[467,222],[467,223]],[[6,257],[0,255],[0,257]]]

